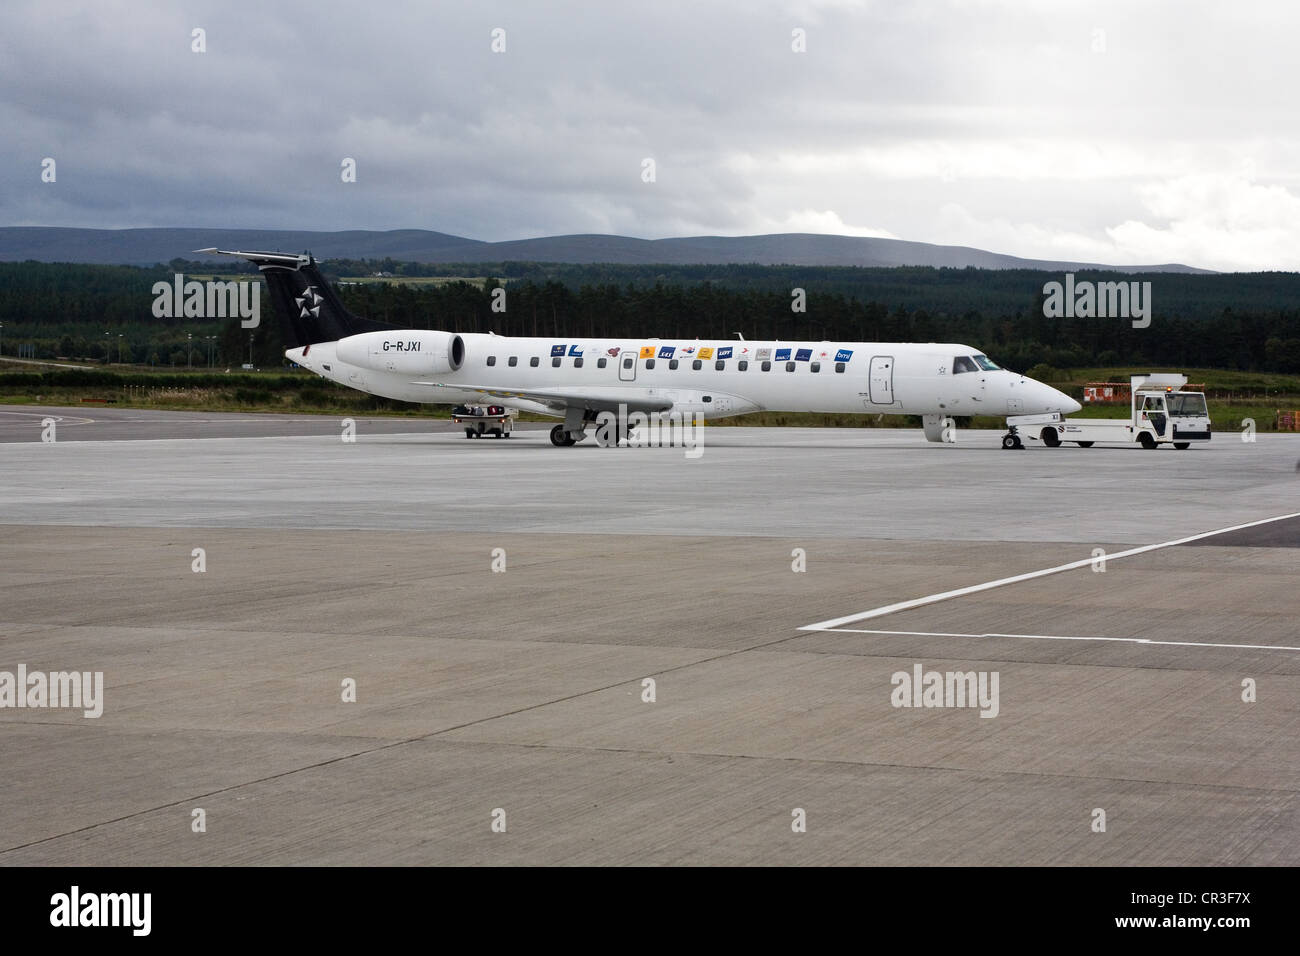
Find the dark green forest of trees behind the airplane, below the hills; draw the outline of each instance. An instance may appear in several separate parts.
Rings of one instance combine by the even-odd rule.
[[[395,276],[482,276],[482,264],[387,261],[324,265],[333,278],[378,271]],[[228,272],[237,269],[226,269]],[[251,267],[247,269],[251,272]],[[35,346],[36,358],[124,360],[183,367],[205,364],[208,336],[217,364],[248,360],[238,320],[156,319],[152,286],[176,272],[211,274],[211,264],[176,260],[152,268],[0,264],[0,323],[5,354]],[[1150,281],[1149,328],[1123,319],[1048,319],[1037,271],[854,269],[816,267],[555,265],[503,263],[486,286],[365,282],[339,286],[352,311],[410,328],[495,332],[555,338],[746,338],[953,341],[1027,369],[1158,364],[1300,372],[1300,276],[1295,273],[1079,273],[1096,281]],[[504,313],[491,290],[507,289]],[[792,311],[792,290],[806,311]],[[269,298],[264,297],[269,312]],[[187,339],[187,334],[190,338]],[[121,339],[118,339],[121,336]],[[264,315],[254,360],[283,363],[280,325]]]

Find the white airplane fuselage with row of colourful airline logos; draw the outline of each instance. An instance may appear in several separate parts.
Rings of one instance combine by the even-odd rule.
[[[673,411],[706,418],[753,411],[1008,416],[1079,408],[1049,385],[997,368],[979,350],[953,343],[462,333],[459,364],[443,360],[442,365],[425,367],[425,352],[446,352],[448,333],[412,329],[367,336],[378,346],[364,358],[358,358],[354,342],[361,336],[285,354],[330,381],[386,398],[454,405],[478,402],[489,393],[519,392],[529,394],[503,397],[502,403],[560,416],[556,402],[545,401],[552,393],[601,403],[662,402]],[[352,362],[341,360],[339,352]],[[976,358],[983,362],[970,369]]]

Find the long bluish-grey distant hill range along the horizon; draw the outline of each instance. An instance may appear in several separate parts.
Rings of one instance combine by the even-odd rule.
[[[636,239],[627,235],[547,235],[481,242],[425,229],[313,233],[270,229],[64,229],[0,226],[0,261],[152,265],[196,259],[208,246],[244,250],[311,251],[317,259],[386,259],[413,263],[615,263],[759,265],[932,265],[980,269],[1109,269],[1113,272],[1204,273],[1190,265],[1101,265],[1020,259],[967,246],[935,246],[904,239],[779,233],[774,235],[692,235]]]

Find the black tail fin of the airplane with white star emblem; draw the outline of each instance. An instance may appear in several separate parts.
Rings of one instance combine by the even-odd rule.
[[[395,325],[363,319],[350,312],[311,255],[287,252],[238,252],[199,248],[208,255],[239,256],[256,265],[266,280],[266,290],[283,326],[286,349],[317,342],[337,342],[360,332],[384,332]]]

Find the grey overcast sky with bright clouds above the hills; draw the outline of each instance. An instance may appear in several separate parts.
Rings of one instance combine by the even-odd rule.
[[[1300,267],[1292,3],[40,0],[3,22],[0,225]]]

